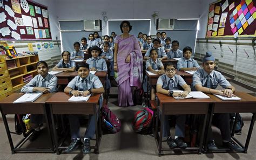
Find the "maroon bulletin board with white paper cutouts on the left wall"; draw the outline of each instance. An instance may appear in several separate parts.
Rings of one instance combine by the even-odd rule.
[[[0,1],[0,40],[51,40],[47,6],[26,0]]]

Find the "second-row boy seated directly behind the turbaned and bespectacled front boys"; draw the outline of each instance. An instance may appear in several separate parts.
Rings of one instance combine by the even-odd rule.
[[[190,58],[192,55],[191,47],[184,47],[183,55],[184,57],[179,59],[177,63],[178,71],[197,71],[200,68],[197,61]]]

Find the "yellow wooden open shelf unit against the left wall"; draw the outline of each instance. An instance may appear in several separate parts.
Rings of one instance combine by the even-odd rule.
[[[12,90],[17,91],[28,83],[35,75],[38,55],[28,55],[6,59],[6,66],[9,71]]]

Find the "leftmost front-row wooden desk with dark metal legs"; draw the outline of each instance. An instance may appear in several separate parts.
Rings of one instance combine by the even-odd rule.
[[[54,152],[53,148],[53,138],[51,135],[50,127],[49,127],[49,119],[46,113],[46,107],[45,107],[45,101],[48,100],[52,93],[43,94],[41,95],[35,102],[26,102],[26,103],[13,103],[15,100],[20,98],[22,94],[19,93],[13,93],[7,98],[3,99],[0,102],[1,105],[1,113],[3,117],[4,126],[6,129],[6,133],[9,139],[11,152],[12,154],[15,154],[16,152]],[[22,145],[28,140],[28,136],[31,135],[31,130],[26,133],[25,128],[22,126],[23,129],[23,138],[21,141],[19,141],[15,146],[11,138],[10,129],[8,126],[8,122],[6,120],[7,114],[43,114],[46,121],[46,126],[48,128],[48,134],[50,136],[51,141],[51,148],[21,148]],[[22,121],[20,119],[20,121]]]

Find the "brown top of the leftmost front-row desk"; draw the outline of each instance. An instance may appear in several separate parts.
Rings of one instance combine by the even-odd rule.
[[[31,104],[31,103],[35,103],[35,104],[44,104],[46,100],[48,100],[54,93],[48,93],[48,94],[42,94],[36,101],[34,102],[25,102],[22,104]],[[9,95],[7,98],[3,99],[0,103],[3,104],[17,104],[20,105],[21,103],[13,103],[14,101],[16,101],[18,98],[20,98],[23,94],[19,94],[19,93],[12,93],[11,95]]]

